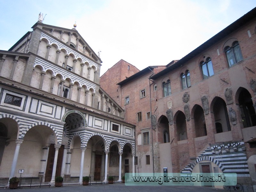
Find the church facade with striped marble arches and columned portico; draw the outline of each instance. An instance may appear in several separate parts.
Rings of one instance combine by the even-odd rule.
[[[100,87],[100,57],[75,26],[32,28],[0,50],[0,178],[134,172],[135,127]]]

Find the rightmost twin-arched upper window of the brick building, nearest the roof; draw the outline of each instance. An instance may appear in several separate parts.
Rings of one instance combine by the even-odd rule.
[[[233,42],[232,47],[225,47],[224,52],[226,53],[229,67],[243,60],[238,41]]]

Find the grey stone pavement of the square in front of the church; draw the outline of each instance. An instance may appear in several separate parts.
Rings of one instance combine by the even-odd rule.
[[[15,189],[12,189],[15,190]],[[217,189],[213,187],[198,187],[198,186],[126,186],[124,183],[115,184],[99,184],[99,185],[63,185],[63,187],[22,187],[16,189],[18,192],[227,192],[224,189]],[[9,188],[0,188],[0,192],[10,192]],[[234,190],[231,190],[234,191]],[[247,192],[247,190],[245,190]]]

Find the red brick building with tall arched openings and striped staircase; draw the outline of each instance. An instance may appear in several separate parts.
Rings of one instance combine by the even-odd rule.
[[[125,121],[136,125],[136,172],[235,172],[255,190],[255,15],[180,60],[109,79]]]

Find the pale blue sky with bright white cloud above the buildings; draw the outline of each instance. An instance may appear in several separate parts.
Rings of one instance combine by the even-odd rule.
[[[0,50],[44,14],[44,24],[76,30],[97,54],[100,76],[119,60],[142,70],[196,49],[256,7],[256,0],[0,0]]]

